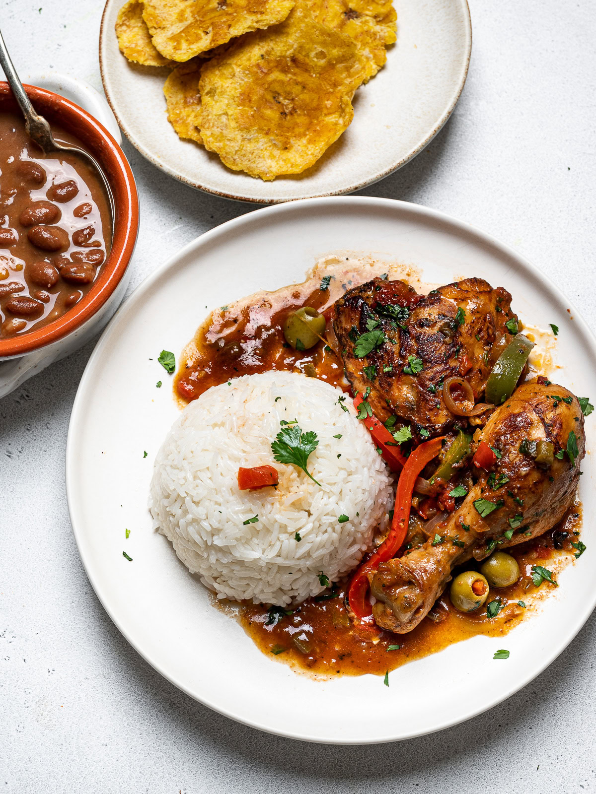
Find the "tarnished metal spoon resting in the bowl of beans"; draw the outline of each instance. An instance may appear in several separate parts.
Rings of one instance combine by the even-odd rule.
[[[14,68],[14,64],[10,58],[8,50],[6,49],[6,44],[2,38],[2,31],[0,31],[0,66],[2,66],[2,69],[4,70],[4,74],[6,75],[6,79],[10,85],[10,89],[22,110],[23,116],[25,116],[25,129],[27,130],[27,134],[31,140],[35,141],[37,145],[44,150],[45,154],[49,154],[50,152],[74,152],[75,154],[83,157],[83,160],[87,160],[88,163],[91,163],[91,165],[95,168],[95,171],[98,173],[103,183],[103,187],[105,188],[110,202],[110,221],[113,234],[116,211],[114,206],[114,195],[112,195],[110,183],[107,181],[106,175],[103,173],[98,161],[95,160],[95,157],[91,156],[89,152],[86,152],[79,146],[75,146],[73,144],[59,144],[54,140],[50,125],[43,116],[40,116],[35,112],[29,97],[27,94],[25,94],[23,84],[17,75],[17,70]]]

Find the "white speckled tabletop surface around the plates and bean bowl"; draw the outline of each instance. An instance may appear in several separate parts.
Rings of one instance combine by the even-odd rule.
[[[17,69],[54,68],[101,91],[102,9],[102,0],[2,0]],[[451,121],[416,160],[362,194],[435,207],[513,245],[596,329],[594,4],[470,0],[470,10],[470,73]],[[193,191],[124,148],[141,196],[131,289],[181,245],[253,209]],[[596,788],[594,615],[505,703],[391,745],[262,734],[162,679],[104,613],[68,520],[68,418],[92,347],[0,400],[0,794]],[[438,669],[428,685],[449,682]],[[382,707],[380,692],[371,708]]]

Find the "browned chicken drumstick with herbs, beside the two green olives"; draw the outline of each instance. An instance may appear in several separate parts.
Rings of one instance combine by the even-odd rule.
[[[575,461],[566,451],[571,433],[577,441]],[[494,476],[477,470],[478,482],[461,506],[435,526],[442,542],[432,545],[429,539],[404,557],[381,563],[370,576],[370,590],[377,599],[373,615],[382,628],[398,634],[412,630],[432,608],[455,565],[536,538],[555,526],[573,503],[585,435],[578,399],[566,388],[537,381],[521,385],[493,412],[479,441],[500,451],[501,458]],[[534,460],[533,441],[551,442],[555,457],[550,465]],[[556,453],[561,450],[565,451],[559,459]],[[478,499],[497,509],[482,518]],[[461,545],[455,545],[454,538]]]

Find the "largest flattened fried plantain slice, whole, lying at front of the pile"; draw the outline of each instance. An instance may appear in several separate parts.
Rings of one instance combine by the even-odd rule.
[[[354,41],[299,2],[281,25],[248,34],[203,66],[203,144],[228,168],[265,181],[299,174],[350,125],[365,77]]]

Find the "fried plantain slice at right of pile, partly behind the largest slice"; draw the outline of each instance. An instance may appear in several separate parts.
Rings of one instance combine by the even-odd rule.
[[[313,0],[312,15],[321,25],[355,41],[367,61],[366,80],[385,64],[385,48],[397,39],[392,0]]]

